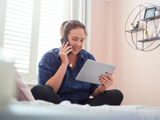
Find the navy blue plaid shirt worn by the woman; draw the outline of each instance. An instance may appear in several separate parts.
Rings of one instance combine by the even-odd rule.
[[[59,48],[55,48],[43,55],[39,62],[38,84],[45,84],[59,69],[62,63],[59,51]],[[92,95],[98,87],[96,84],[75,80],[87,59],[95,60],[92,54],[82,49],[78,53],[78,59],[73,70],[68,65],[61,86],[57,91],[57,94],[62,100],[82,104],[89,99],[89,96]]]

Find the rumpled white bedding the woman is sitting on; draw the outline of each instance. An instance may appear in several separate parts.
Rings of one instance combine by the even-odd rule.
[[[63,101],[52,104],[42,100],[11,101],[0,120],[160,120],[160,108],[145,105],[96,106],[71,104]]]

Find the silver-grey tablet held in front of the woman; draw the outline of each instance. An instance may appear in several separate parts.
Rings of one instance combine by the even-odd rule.
[[[116,67],[113,65],[108,65],[88,59],[78,73],[76,80],[94,84],[102,84],[99,81],[99,76],[101,76],[102,74],[107,76],[105,72],[112,74],[115,68]]]

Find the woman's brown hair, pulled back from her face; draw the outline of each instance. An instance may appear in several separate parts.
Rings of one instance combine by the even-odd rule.
[[[69,20],[69,21],[64,21],[61,25],[60,28],[61,37],[63,35],[68,35],[70,33],[70,30],[76,29],[78,27],[82,28],[87,36],[86,28],[81,22],[79,22],[78,20]]]

